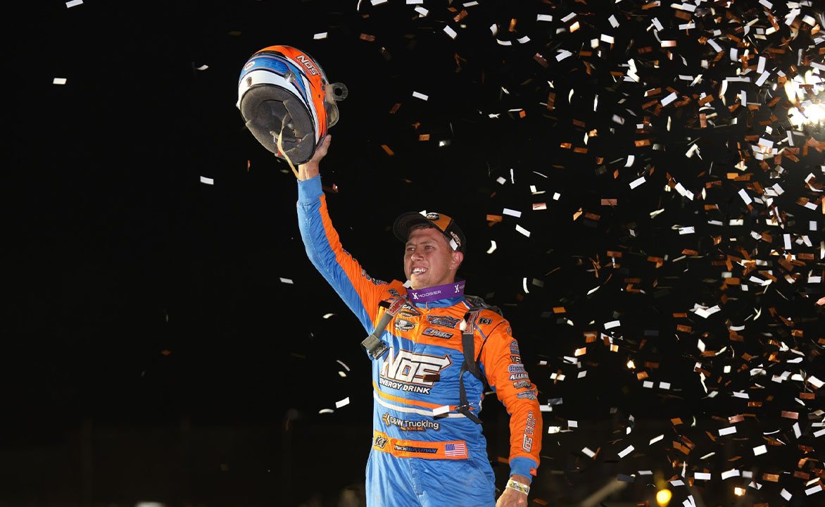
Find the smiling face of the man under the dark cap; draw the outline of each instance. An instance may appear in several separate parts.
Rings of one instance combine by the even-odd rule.
[[[404,274],[413,289],[455,282],[464,253],[454,251],[440,230],[421,227],[410,232],[404,247]]]

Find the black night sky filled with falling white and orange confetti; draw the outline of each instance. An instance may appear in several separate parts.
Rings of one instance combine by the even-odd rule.
[[[349,89],[321,170],[371,276],[403,277],[404,211],[467,235],[466,291],[547,410],[530,505],[825,498],[817,2],[31,8],[7,20],[0,503],[337,505],[363,481],[364,331],[235,107],[268,45]],[[507,415],[483,415],[502,479]]]

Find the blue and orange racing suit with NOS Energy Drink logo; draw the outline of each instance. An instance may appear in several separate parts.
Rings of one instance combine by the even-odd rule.
[[[381,339],[389,352],[372,362],[373,438],[366,469],[368,507],[496,503],[481,425],[456,411],[464,362],[460,324],[471,307],[464,282],[413,290],[370,277],[341,243],[329,219],[321,177],[298,182],[298,220],[309,259],[361,320],[367,333],[382,301],[406,296]],[[518,343],[501,315],[482,309],[475,322],[480,369],[510,414],[511,474],[539,466],[541,414]],[[464,373],[471,413],[483,382]]]

